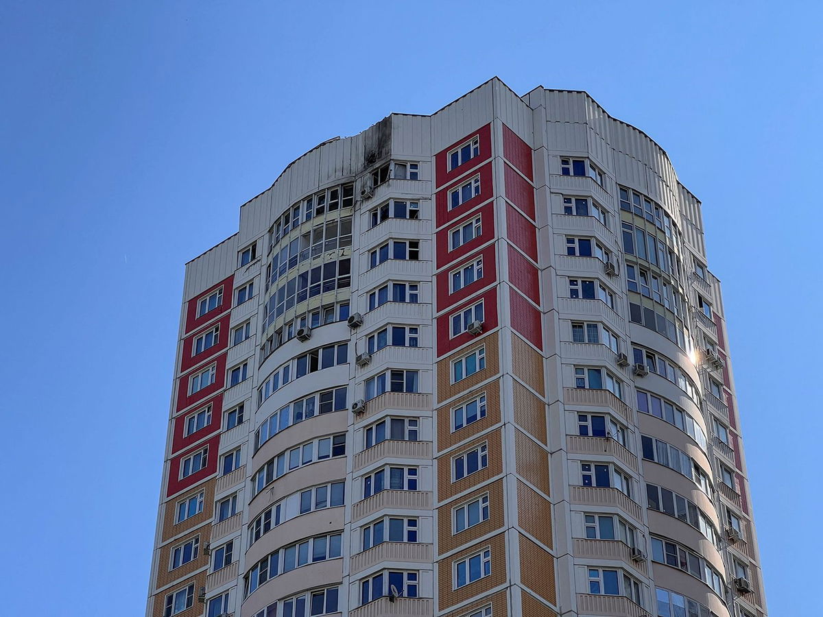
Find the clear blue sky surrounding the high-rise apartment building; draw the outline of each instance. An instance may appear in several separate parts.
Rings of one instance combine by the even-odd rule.
[[[3,2],[0,612],[143,614],[184,262],[320,141],[498,75],[588,90],[703,200],[765,591],[820,615],[819,3],[308,4]]]

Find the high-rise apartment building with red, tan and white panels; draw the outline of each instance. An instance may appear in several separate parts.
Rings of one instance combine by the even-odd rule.
[[[186,267],[148,617],[763,617],[700,202],[584,92],[326,141]]]

